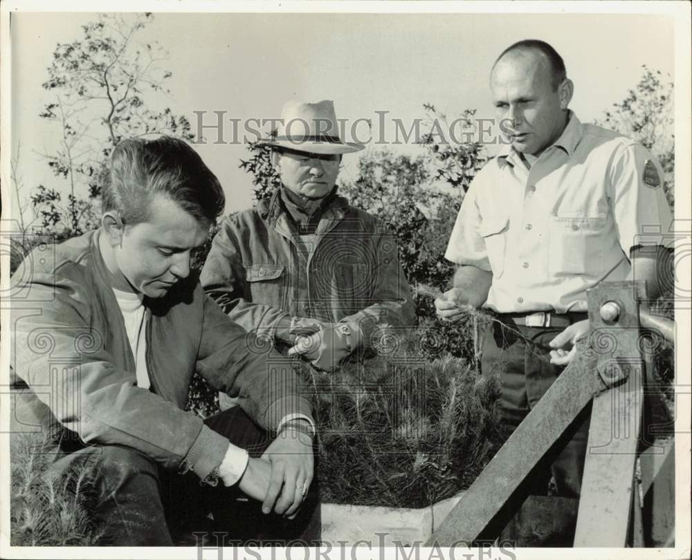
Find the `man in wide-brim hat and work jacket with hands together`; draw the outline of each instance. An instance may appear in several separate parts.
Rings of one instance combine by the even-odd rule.
[[[221,223],[202,285],[246,330],[331,371],[379,327],[412,326],[397,243],[336,192],[343,154],[363,146],[340,138],[333,102],[286,103],[262,143],[281,186]]]

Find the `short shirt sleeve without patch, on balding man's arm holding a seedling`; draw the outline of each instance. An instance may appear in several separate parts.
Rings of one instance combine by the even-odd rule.
[[[477,201],[479,181],[474,179],[459,208],[444,258],[460,265],[471,265],[491,272],[488,251],[479,233],[482,217]]]

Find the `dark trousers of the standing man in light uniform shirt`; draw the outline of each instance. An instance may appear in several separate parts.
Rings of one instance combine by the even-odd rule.
[[[507,435],[513,432],[550,388],[563,366],[550,363],[549,342],[563,328],[494,322],[482,339],[481,368],[500,376],[500,413]],[[588,443],[590,407],[577,416],[563,437],[530,477],[529,493],[546,495],[550,475],[558,496],[579,497]]]

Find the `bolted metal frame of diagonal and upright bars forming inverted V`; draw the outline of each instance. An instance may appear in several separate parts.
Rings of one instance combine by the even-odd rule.
[[[596,395],[574,545],[623,546],[643,406],[637,346],[643,282],[588,290],[591,333],[576,357],[505,442],[427,545],[473,543],[515,494],[572,420]]]

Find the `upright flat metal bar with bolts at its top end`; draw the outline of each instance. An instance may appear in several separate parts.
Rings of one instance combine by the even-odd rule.
[[[605,382],[624,382],[594,398],[575,547],[628,541],[644,409],[639,301],[645,293],[642,283],[605,283],[588,295],[592,347],[601,348],[597,372]]]

